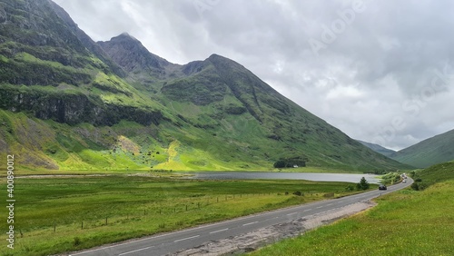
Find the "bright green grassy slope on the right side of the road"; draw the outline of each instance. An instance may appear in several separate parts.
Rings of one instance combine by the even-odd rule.
[[[454,255],[454,162],[415,176],[429,187],[380,197],[368,212],[251,255]]]

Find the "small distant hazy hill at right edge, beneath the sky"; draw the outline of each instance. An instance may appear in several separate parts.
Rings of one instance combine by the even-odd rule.
[[[442,133],[406,149],[393,153],[390,157],[419,168],[454,160],[454,130]]]

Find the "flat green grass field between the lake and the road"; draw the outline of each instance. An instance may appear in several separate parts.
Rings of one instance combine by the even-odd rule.
[[[15,180],[15,250],[49,255],[349,192],[345,182],[189,181],[143,176]],[[1,190],[5,191],[5,181]],[[300,191],[304,195],[296,196]],[[286,194],[288,192],[288,194]],[[7,215],[1,208],[0,214]],[[7,231],[6,223],[2,230]]]

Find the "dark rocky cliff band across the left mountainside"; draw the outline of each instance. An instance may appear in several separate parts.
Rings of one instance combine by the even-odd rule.
[[[0,90],[0,108],[12,112],[33,113],[40,119],[52,119],[58,123],[92,123],[113,125],[122,120],[149,125],[159,124],[163,114],[152,109],[102,103],[98,98],[85,94],[64,92],[38,93],[11,88]]]

